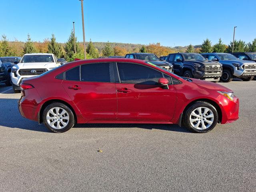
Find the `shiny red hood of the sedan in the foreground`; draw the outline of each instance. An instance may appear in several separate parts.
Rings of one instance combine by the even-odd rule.
[[[223,92],[233,92],[229,88],[226,88],[217,83],[213,83],[213,82],[206,81],[206,80],[200,80],[200,79],[192,79],[192,78],[191,78],[191,80],[194,84],[197,84],[198,86],[201,86],[206,89],[215,90],[215,91],[223,91]]]

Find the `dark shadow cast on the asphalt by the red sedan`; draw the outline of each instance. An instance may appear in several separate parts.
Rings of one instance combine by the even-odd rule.
[[[19,128],[24,130],[50,132],[43,124],[28,120],[20,115],[18,99],[0,98],[0,127]],[[170,124],[76,124],[74,128],[142,128],[175,132],[189,132],[186,128]]]

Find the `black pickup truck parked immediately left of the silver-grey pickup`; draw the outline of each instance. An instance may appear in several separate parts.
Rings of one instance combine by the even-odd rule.
[[[172,53],[167,57],[174,73],[188,78],[218,82],[222,75],[222,65],[208,61],[198,53]]]

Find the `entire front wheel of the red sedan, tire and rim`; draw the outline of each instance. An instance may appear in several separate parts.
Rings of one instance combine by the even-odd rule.
[[[208,102],[196,102],[184,113],[184,126],[196,133],[205,133],[212,130],[218,122],[218,112]]]

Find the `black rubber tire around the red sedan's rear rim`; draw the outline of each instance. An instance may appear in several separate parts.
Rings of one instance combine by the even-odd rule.
[[[47,115],[47,112],[51,109],[51,108],[54,108],[54,107],[60,107],[60,108],[63,108],[64,110],[66,110],[66,112],[68,113],[68,116],[69,116],[69,121],[68,121],[68,124],[62,128],[62,129],[55,129],[55,128],[52,128],[47,120],[46,120],[46,115]],[[74,118],[74,114],[72,112],[72,110],[66,106],[65,104],[63,103],[59,103],[59,102],[54,102],[50,105],[48,105],[45,109],[44,109],[44,112],[43,112],[43,115],[42,115],[42,119],[43,119],[43,122],[44,122],[44,125],[49,129],[51,130],[52,132],[56,132],[56,133],[62,133],[62,132],[65,132],[67,130],[70,130],[70,128],[72,128],[75,124],[75,118]],[[56,119],[57,120],[57,119]]]

